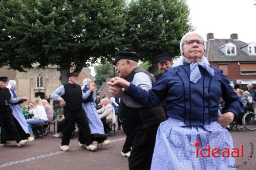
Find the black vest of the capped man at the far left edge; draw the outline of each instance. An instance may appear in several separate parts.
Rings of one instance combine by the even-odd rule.
[[[0,112],[10,111],[11,93],[8,88],[0,88]]]

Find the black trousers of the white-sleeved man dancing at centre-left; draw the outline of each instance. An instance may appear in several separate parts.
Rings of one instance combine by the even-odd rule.
[[[87,119],[83,110],[63,110],[63,114],[65,116],[65,123],[63,127],[63,136],[61,145],[69,145],[72,132],[75,127],[75,123],[78,124],[79,130],[81,131],[81,138],[86,142],[87,145],[93,143],[91,137],[90,127],[88,125]]]

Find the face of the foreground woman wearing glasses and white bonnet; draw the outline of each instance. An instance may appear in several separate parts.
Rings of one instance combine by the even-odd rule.
[[[190,62],[201,61],[201,58],[204,55],[204,43],[202,44],[202,42],[203,41],[199,35],[188,35],[182,45],[183,56]]]

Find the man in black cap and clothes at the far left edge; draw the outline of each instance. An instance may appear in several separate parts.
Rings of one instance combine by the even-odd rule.
[[[7,87],[8,78],[7,77],[0,77],[0,126],[1,126],[1,143],[0,147],[4,147],[6,144],[5,141],[5,131],[8,131],[11,136],[17,142],[17,146],[21,147],[24,145],[27,140],[22,140],[20,137],[17,128],[14,124],[12,110],[10,108],[10,100],[11,100],[11,93]]]

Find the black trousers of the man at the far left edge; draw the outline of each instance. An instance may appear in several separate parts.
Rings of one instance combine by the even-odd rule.
[[[14,120],[12,117],[11,112],[0,112],[0,126],[1,126],[1,143],[5,143],[5,137],[4,132],[8,131],[8,133],[11,134],[11,136],[16,140],[18,143],[20,140],[22,140],[22,137],[20,137],[18,130],[14,124]]]

